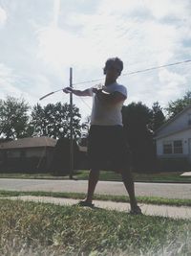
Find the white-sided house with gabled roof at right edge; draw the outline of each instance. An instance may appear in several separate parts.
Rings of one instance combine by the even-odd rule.
[[[162,125],[155,134],[157,157],[163,167],[182,170],[191,166],[191,105]]]

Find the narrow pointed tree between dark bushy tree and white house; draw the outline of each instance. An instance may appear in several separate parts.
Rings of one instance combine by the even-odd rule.
[[[162,108],[159,105],[159,102],[156,102],[152,105],[152,122],[149,128],[155,132],[164,122],[165,116],[162,112]]]

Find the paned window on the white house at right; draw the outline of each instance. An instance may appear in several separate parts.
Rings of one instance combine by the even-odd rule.
[[[172,154],[172,153],[182,153],[182,141],[175,140],[175,141],[168,141],[163,143],[163,153],[164,154]]]

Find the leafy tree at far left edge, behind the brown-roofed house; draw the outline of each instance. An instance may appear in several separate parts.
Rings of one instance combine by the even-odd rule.
[[[29,109],[24,99],[8,96],[0,100],[0,136],[5,139],[28,136]]]

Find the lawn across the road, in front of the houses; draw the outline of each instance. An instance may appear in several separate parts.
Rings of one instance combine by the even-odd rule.
[[[134,173],[137,182],[180,182],[191,183],[191,176],[180,176],[183,172],[137,174]],[[88,179],[89,171],[79,170],[74,172],[74,178]],[[0,174],[0,178],[46,178],[46,179],[69,179],[69,175],[55,176],[51,174]],[[121,181],[121,176],[110,171],[101,171],[100,180]]]

